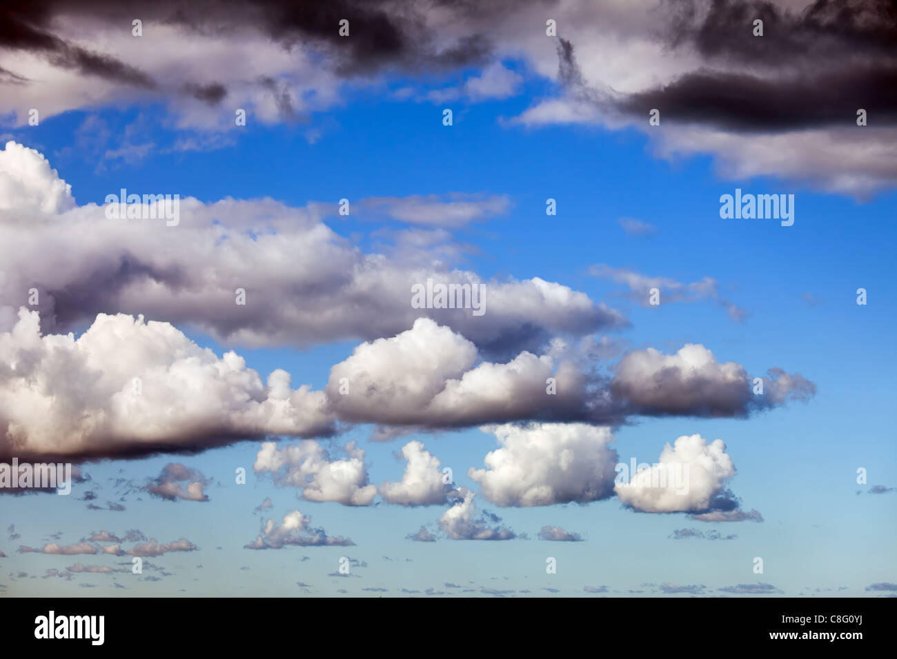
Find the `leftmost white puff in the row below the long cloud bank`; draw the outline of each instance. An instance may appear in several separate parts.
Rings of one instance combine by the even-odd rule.
[[[279,485],[299,488],[309,501],[369,506],[377,487],[368,482],[365,452],[351,441],[346,443],[344,453],[343,460],[331,461],[327,451],[310,439],[282,449],[275,442],[263,442],[253,469],[270,473]]]

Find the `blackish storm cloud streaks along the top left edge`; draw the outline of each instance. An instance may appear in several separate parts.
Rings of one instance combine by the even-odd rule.
[[[475,4],[436,2],[456,13],[475,13]],[[139,17],[144,25],[161,22],[186,32],[235,34],[256,30],[284,48],[311,45],[327,48],[340,74],[363,74],[384,66],[410,70],[453,68],[482,62],[492,50],[482,34],[469,34],[455,43],[437,47],[438,34],[427,27],[428,4],[407,0],[255,0],[239,3],[213,0],[202,4],[167,1],[154,4],[129,0],[72,2],[44,0],[13,2],[0,8],[0,48],[39,53],[57,66],[76,68],[144,87],[155,83],[135,67],[108,56],[91,53],[59,38],[52,31],[60,15],[74,15],[131,30]],[[340,22],[349,22],[349,37],[339,34]],[[144,38],[152,33],[144,32]],[[222,98],[222,88],[213,98]],[[188,91],[193,93],[193,91]],[[205,99],[201,99],[205,100]]]

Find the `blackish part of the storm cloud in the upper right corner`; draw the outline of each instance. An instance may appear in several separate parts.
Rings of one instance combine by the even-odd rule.
[[[709,7],[707,11],[702,8]],[[897,4],[819,0],[801,13],[765,2],[670,0],[661,38],[693,48],[701,66],[628,95],[589,88],[573,45],[558,39],[559,77],[579,100],[606,112],[736,132],[853,126],[857,110],[897,124]],[[753,36],[753,21],[763,36]],[[665,30],[661,30],[664,32]]]

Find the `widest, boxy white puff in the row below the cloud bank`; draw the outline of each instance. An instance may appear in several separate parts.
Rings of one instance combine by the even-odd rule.
[[[485,456],[484,469],[467,475],[484,499],[498,506],[588,503],[614,494],[617,453],[609,428],[584,423],[503,425],[491,431],[501,448]]]

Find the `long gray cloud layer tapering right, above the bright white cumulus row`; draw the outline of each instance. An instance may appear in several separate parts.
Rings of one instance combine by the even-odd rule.
[[[32,287],[45,331],[68,331],[100,313],[142,314],[252,347],[370,340],[429,316],[485,353],[507,356],[537,350],[556,334],[627,325],[619,312],[559,283],[483,280],[434,264],[439,246],[431,243],[405,243],[400,261],[365,254],[322,221],[324,204],[181,199],[179,224],[166,226],[77,206],[48,161],[16,143],[0,151],[0,172],[11,179],[0,205],[0,260],[14,273],[0,291],[0,328],[13,324],[19,291]],[[485,313],[414,308],[412,286],[428,279],[483,285]],[[238,288],[245,306],[235,303]],[[301,307],[281,301],[296,298]]]

